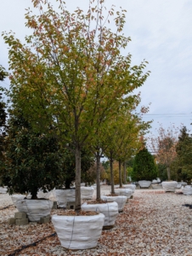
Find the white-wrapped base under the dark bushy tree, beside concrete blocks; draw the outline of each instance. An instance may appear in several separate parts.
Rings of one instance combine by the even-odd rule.
[[[15,201],[15,207],[19,212],[26,212],[30,221],[39,221],[40,218],[48,216],[53,207],[53,201],[36,200],[36,199],[20,199]]]

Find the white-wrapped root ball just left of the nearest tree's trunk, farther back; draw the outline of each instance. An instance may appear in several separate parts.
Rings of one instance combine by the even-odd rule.
[[[68,201],[76,201],[76,189],[55,189],[58,207],[66,207]]]

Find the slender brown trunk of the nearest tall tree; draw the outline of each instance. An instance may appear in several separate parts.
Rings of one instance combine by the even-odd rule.
[[[81,210],[81,149],[76,145],[76,212]]]

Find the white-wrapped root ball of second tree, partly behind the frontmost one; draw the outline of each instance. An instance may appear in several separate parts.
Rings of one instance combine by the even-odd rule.
[[[94,211],[104,214],[104,226],[114,225],[118,215],[118,204],[116,201],[105,204],[82,204],[82,211]]]

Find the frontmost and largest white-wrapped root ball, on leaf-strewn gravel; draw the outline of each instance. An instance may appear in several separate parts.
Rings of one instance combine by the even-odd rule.
[[[83,250],[96,247],[104,225],[104,214],[93,216],[52,216],[62,247]]]

